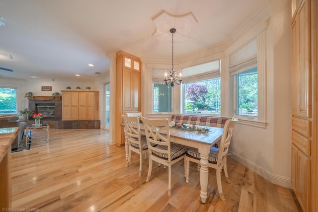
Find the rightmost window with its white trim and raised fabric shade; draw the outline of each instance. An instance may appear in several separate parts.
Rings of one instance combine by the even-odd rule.
[[[261,85],[265,82],[265,69],[258,66],[258,60],[265,59],[258,57],[259,53],[264,55],[264,49],[257,49],[257,42],[262,40],[256,38],[230,55],[229,72],[233,83],[233,115],[240,120],[264,122],[265,91]]]

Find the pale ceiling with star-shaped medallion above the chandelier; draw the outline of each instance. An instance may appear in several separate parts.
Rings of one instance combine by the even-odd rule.
[[[0,76],[93,79],[109,71],[107,55],[120,50],[171,58],[172,36],[163,30],[172,27],[174,57],[181,57],[225,43],[268,5],[269,0],[0,0],[0,67],[13,70],[0,70]],[[159,24],[162,10],[192,12],[195,21],[160,17]]]

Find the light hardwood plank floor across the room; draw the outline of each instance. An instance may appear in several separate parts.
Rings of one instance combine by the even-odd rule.
[[[12,153],[12,207],[42,212],[297,212],[293,191],[274,185],[232,158],[231,184],[222,173],[226,201],[219,198],[215,170],[209,169],[208,199],[200,203],[199,172],[191,163],[185,183],[183,160],[172,166],[172,196],[167,169],[148,160],[138,177],[139,157],[126,168],[125,147],[108,144],[106,130],[50,130],[50,143]]]

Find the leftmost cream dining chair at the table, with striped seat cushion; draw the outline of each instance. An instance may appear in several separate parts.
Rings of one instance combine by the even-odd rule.
[[[125,123],[125,133],[128,141],[128,160],[126,167],[129,166],[131,159],[131,152],[139,154],[139,177],[142,175],[143,169],[143,154],[147,155],[148,145],[146,137],[140,134],[139,118],[137,116],[122,116]]]

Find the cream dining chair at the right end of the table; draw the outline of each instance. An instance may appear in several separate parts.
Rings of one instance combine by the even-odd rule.
[[[224,169],[224,174],[226,176],[227,182],[231,183],[228,169],[227,169],[227,155],[229,151],[229,146],[231,143],[231,138],[233,134],[233,129],[237,123],[238,119],[236,117],[227,120],[224,125],[223,134],[221,137],[220,147],[210,147],[210,154],[208,157],[208,167],[216,169],[217,175],[217,184],[219,190],[219,196],[221,200],[225,200],[222,190],[222,183],[221,183],[221,172]],[[200,153],[197,148],[189,147],[186,154],[186,178],[185,181],[189,182],[189,169],[190,169],[190,161],[200,164]]]

